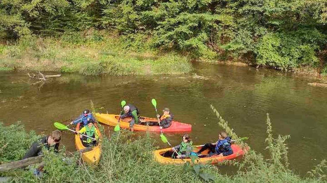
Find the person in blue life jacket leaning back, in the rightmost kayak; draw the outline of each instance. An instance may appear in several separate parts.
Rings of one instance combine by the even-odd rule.
[[[209,149],[209,156],[216,155],[218,156],[228,156],[233,154],[233,149],[231,147],[231,137],[227,135],[226,132],[222,131],[218,135],[218,141],[215,144],[207,143],[205,144],[197,153],[200,156],[201,152]]]

